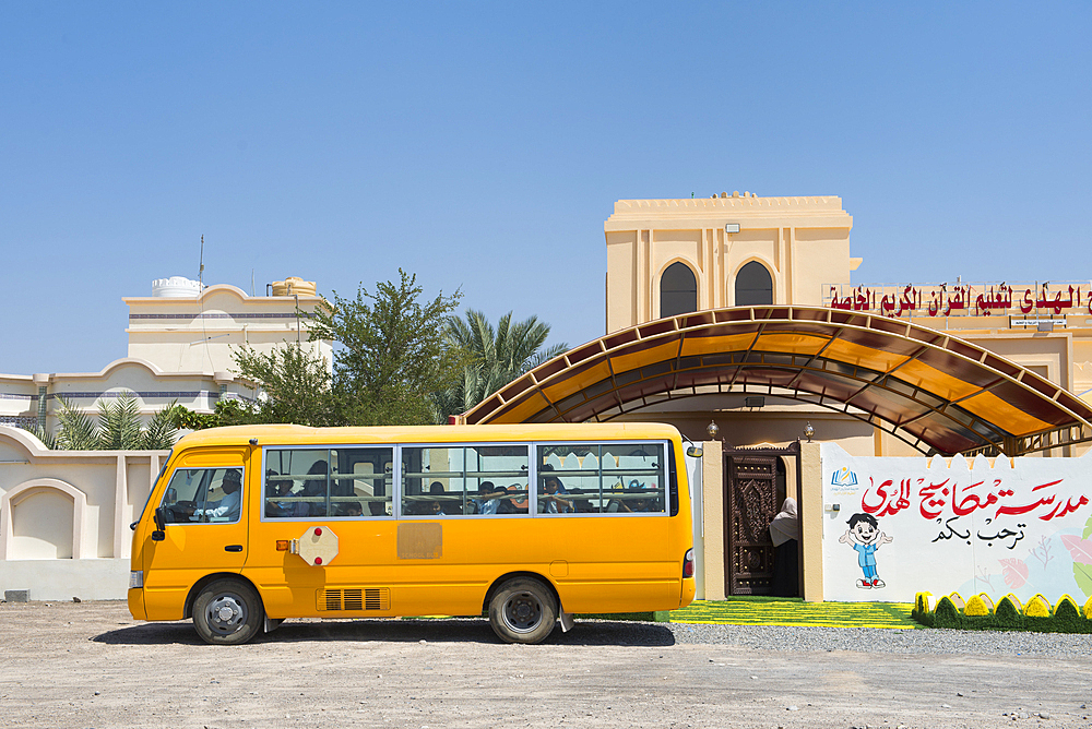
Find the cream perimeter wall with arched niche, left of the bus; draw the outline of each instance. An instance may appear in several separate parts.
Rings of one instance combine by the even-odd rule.
[[[0,590],[124,599],[130,522],[166,451],[49,451],[0,426]]]

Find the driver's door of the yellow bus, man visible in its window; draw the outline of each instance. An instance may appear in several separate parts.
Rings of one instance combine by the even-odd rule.
[[[241,572],[247,561],[249,449],[183,453],[144,534],[149,620],[180,620],[201,577]]]

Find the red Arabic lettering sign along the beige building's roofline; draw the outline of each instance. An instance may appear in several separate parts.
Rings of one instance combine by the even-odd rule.
[[[1092,283],[836,285],[823,306],[885,316],[1092,315]]]

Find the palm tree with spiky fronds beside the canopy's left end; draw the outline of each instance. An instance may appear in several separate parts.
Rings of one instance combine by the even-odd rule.
[[[439,415],[465,413],[524,372],[554,359],[569,348],[556,344],[543,349],[549,324],[531,316],[512,323],[512,312],[500,318],[497,328],[480,311],[468,309],[466,319],[448,316],[448,344],[464,352],[463,377],[437,396]]]

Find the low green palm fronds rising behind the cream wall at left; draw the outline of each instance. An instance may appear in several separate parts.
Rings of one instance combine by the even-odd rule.
[[[124,392],[112,402],[98,402],[97,422],[63,397],[57,414],[60,428],[50,445],[61,451],[165,451],[175,444],[171,403],[156,410],[146,426],[141,425],[140,402]]]

